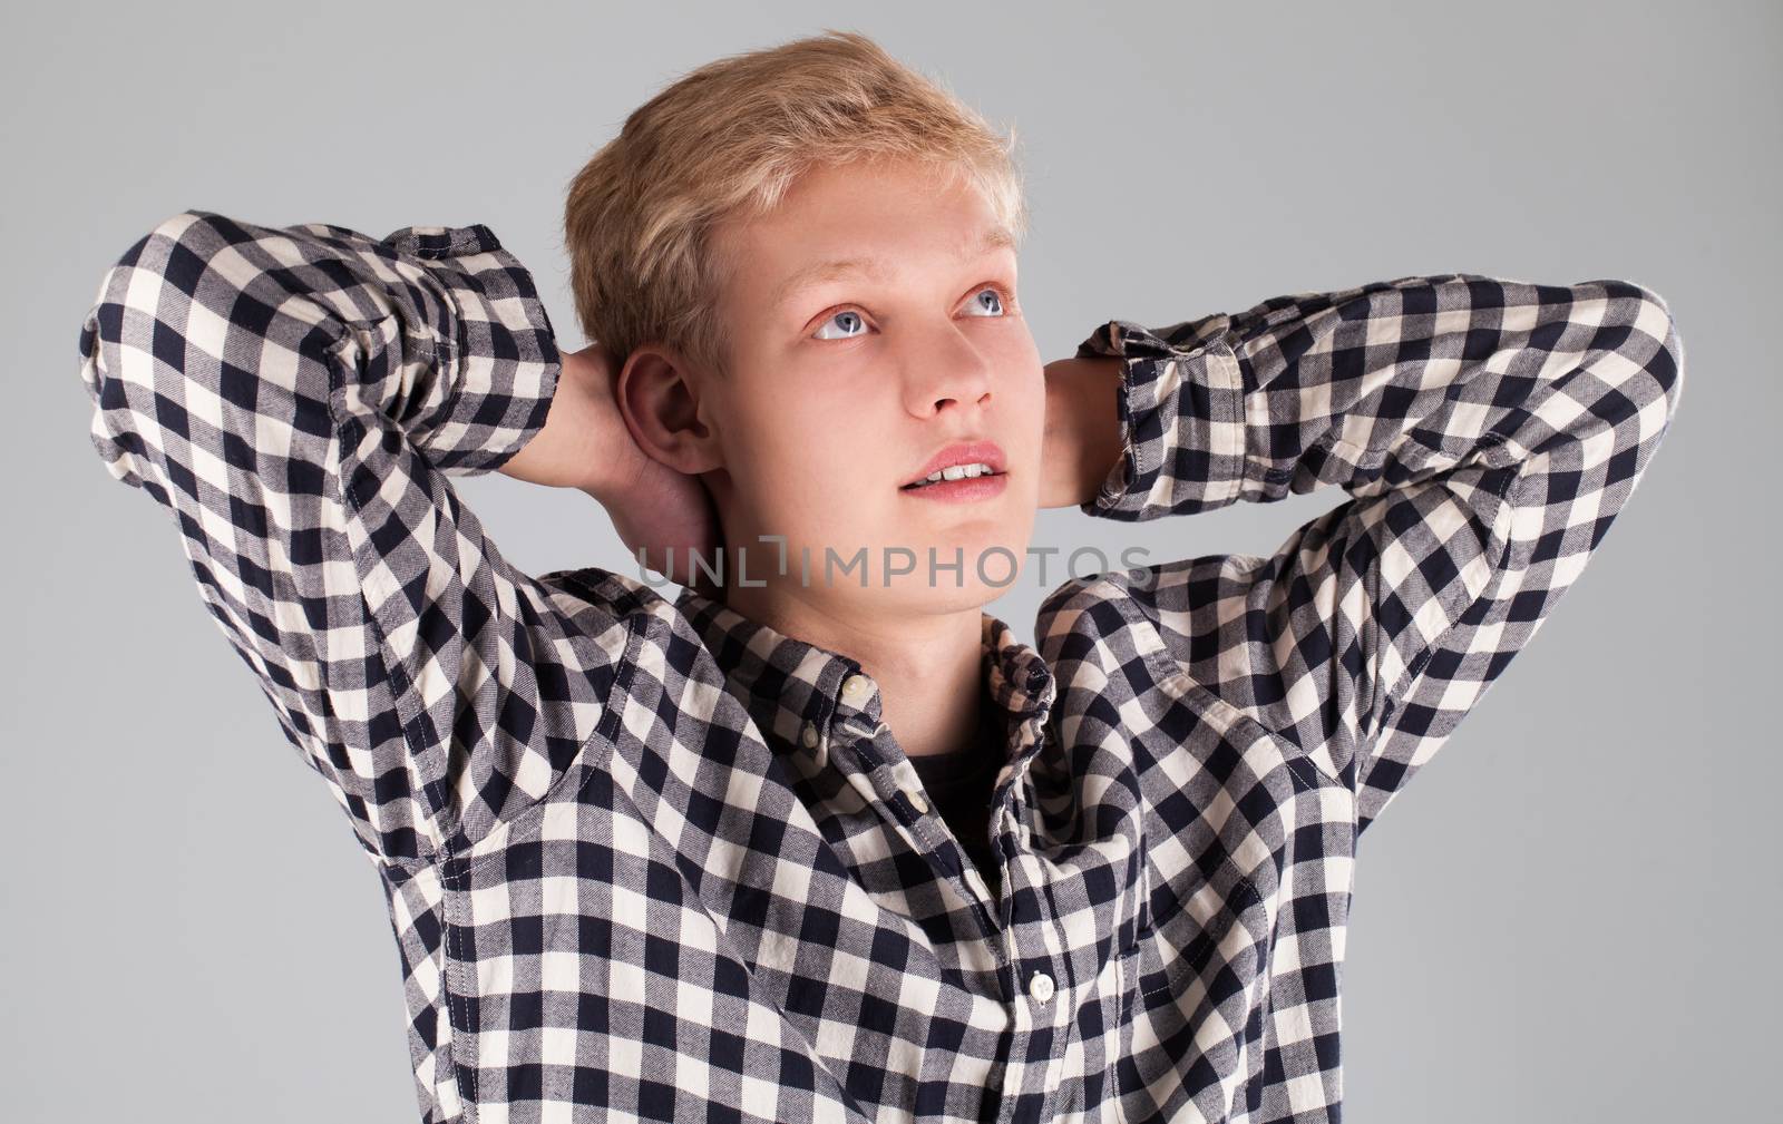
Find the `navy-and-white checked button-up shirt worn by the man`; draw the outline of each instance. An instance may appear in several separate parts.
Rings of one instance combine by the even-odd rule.
[[[1355,844],[1573,584],[1669,424],[1628,281],[1407,276],[1113,321],[1150,520],[1341,486],[1269,556],[1073,579],[966,860],[874,680],[724,604],[528,575],[453,476],[558,351],[487,226],[184,212],[80,331],[93,442],[346,810],[423,1120],[1337,1120]]]

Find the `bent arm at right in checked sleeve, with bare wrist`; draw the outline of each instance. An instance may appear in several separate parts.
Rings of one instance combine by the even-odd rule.
[[[1268,558],[1154,566],[1134,597],[1189,679],[1353,787],[1366,827],[1603,542],[1676,410],[1683,349],[1628,281],[1441,274],[1159,331],[1113,321],[1048,369],[1072,374],[1052,394],[1088,403],[1088,440],[1114,449],[1088,495],[1091,458],[1059,485],[1086,513],[1350,493]]]

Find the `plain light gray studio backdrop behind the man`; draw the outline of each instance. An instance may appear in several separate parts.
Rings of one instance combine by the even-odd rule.
[[[12,397],[0,1115],[414,1120],[376,876],[87,444],[105,267],[187,207],[487,223],[569,346],[562,203],[686,69],[863,30],[1018,126],[1045,358],[1109,317],[1471,271],[1656,289],[1672,431],[1537,641],[1364,837],[1353,1120],[1726,1119],[1774,1069],[1774,4],[182,5],[0,39]],[[592,501],[460,483],[531,572],[635,572]],[[1335,490],[1036,545],[1266,552]],[[1048,584],[1057,584],[1056,574]],[[1032,639],[1043,590],[991,611]]]

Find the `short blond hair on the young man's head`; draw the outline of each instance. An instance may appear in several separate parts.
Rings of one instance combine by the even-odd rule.
[[[735,262],[713,228],[770,212],[813,166],[895,157],[965,175],[1020,246],[1015,128],[995,132],[943,84],[856,32],[717,59],[626,118],[563,207],[583,333],[619,362],[645,342],[726,371],[719,294]]]

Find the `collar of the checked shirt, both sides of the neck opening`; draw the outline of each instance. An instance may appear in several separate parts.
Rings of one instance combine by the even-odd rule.
[[[820,764],[833,727],[879,725],[879,686],[850,656],[777,632],[692,588],[683,588],[674,604],[699,631],[756,725],[779,743],[776,748],[813,755]],[[986,695],[1004,711],[1007,729],[1045,720],[1054,702],[1045,659],[997,616],[981,611],[979,620]],[[808,745],[813,737],[806,723],[815,745]]]

